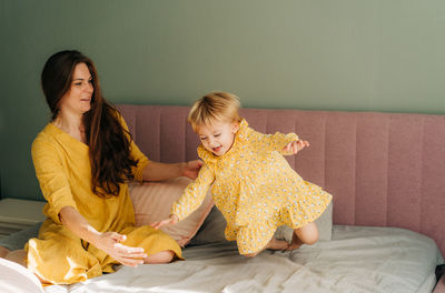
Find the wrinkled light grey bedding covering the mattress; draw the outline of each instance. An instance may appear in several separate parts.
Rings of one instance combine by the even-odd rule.
[[[239,256],[235,243],[189,246],[186,261],[118,272],[46,292],[432,292],[435,242],[394,228],[335,225],[332,241]]]

